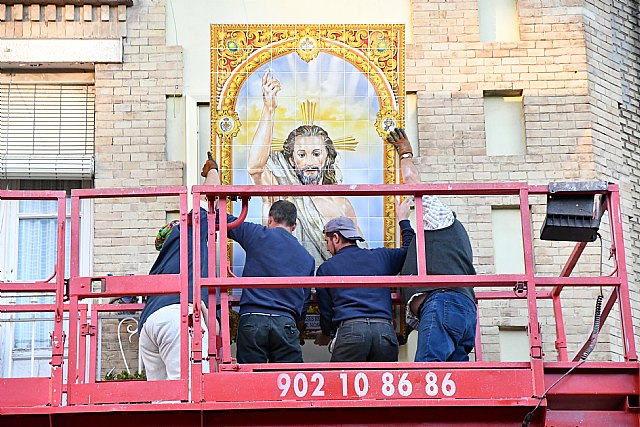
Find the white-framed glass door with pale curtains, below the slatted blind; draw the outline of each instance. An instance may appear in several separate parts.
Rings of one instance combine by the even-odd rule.
[[[90,181],[10,180],[11,190],[71,190],[89,187]],[[92,252],[92,202],[81,202],[80,272],[89,274]],[[67,200],[66,253],[69,253],[71,200]],[[0,201],[0,280],[34,282],[53,275],[57,254],[57,202],[50,200]],[[69,257],[65,276],[68,277]],[[48,304],[53,295],[4,293],[0,304]],[[0,314],[0,377],[48,376],[53,314]]]

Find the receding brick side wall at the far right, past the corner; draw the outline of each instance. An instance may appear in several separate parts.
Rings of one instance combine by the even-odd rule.
[[[638,174],[638,13],[637,1],[610,4],[587,1],[585,39],[587,41],[589,92],[593,113],[593,151],[598,176],[621,186],[624,231],[631,299],[638,321],[637,266],[639,255],[637,216]],[[622,338],[618,332],[618,306],[612,313],[614,349],[622,358]],[[636,329],[637,330],[637,329]]]

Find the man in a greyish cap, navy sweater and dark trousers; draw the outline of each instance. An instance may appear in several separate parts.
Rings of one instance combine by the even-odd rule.
[[[415,236],[408,221],[410,204],[396,207],[402,247],[364,249],[364,241],[349,218],[338,217],[324,227],[332,257],[318,268],[317,276],[390,276],[400,272],[409,243]],[[322,332],[316,344],[326,345],[334,335],[332,362],[395,362],[398,338],[392,324],[389,288],[317,289]],[[336,331],[337,328],[337,331]]]

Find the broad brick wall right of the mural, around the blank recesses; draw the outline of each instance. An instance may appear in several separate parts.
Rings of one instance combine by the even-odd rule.
[[[418,94],[419,165],[424,182],[546,184],[620,178],[624,168],[616,139],[618,112],[610,99],[619,89],[611,87],[611,61],[599,69],[593,39],[585,33],[590,28],[582,3],[519,1],[520,41],[481,43],[476,1],[413,2],[414,43],[407,48],[407,86]],[[594,37],[606,34],[600,30],[594,31]],[[601,88],[614,95],[605,97],[595,91]],[[526,155],[486,155],[483,92],[493,90],[522,91]],[[610,169],[616,172],[605,175]],[[490,206],[515,202],[490,198],[452,202],[467,221],[479,272],[493,272]],[[544,200],[532,202],[535,237],[545,208],[540,205]],[[534,245],[536,271],[558,275],[572,245],[538,239]],[[574,275],[597,273],[599,259],[599,245],[589,245]],[[603,268],[607,271],[606,265]],[[569,354],[591,329],[597,293],[586,288],[563,292]],[[550,307],[541,302],[539,315],[544,351],[553,359],[555,325]],[[485,359],[496,360],[496,326],[526,324],[526,309],[521,302],[482,303],[481,316]],[[615,350],[612,341],[615,337],[605,330],[592,358],[610,357],[608,352]]]

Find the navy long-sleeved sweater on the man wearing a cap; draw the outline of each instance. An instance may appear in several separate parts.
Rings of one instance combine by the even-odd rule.
[[[400,221],[402,247],[363,249],[345,246],[318,268],[317,276],[395,276],[402,269],[415,236],[408,220]],[[319,288],[320,327],[330,335],[340,322],[358,317],[391,320],[389,288]]]

